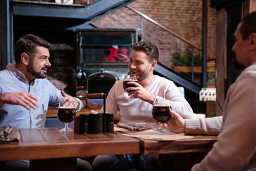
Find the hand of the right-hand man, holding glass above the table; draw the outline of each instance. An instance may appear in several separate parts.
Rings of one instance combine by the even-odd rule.
[[[172,133],[185,133],[185,120],[175,111],[169,109],[172,118],[166,123],[160,123],[161,126],[167,128]]]

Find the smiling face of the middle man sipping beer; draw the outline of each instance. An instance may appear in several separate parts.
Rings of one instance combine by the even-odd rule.
[[[153,71],[152,63],[148,61],[147,54],[143,51],[131,51],[128,66],[130,75],[135,75],[138,81],[143,81],[148,77],[148,73]]]

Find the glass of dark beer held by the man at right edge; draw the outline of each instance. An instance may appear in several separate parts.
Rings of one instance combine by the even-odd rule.
[[[160,127],[160,123],[168,121],[172,115],[169,113],[170,101],[166,99],[157,98],[153,105],[152,115],[158,121],[158,128],[156,130],[165,132],[165,129]]]

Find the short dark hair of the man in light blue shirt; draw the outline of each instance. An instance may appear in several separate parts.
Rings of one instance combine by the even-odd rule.
[[[19,38],[19,40],[16,41],[14,46],[15,62],[21,62],[21,53],[27,53],[29,56],[31,56],[31,58],[33,58],[34,54],[37,52],[36,46],[43,46],[45,48],[50,49],[51,43],[48,43],[48,41],[33,34],[28,34],[26,36]]]

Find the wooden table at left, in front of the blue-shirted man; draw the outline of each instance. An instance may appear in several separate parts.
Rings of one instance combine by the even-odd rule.
[[[21,140],[0,143],[0,161],[31,160],[33,170],[76,170],[76,157],[140,152],[139,140],[121,133],[63,134],[58,128],[13,131],[19,131]]]

